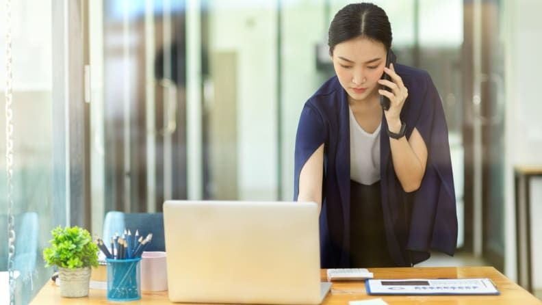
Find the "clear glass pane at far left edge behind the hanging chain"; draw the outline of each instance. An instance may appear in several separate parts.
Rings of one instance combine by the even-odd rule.
[[[14,271],[16,304],[27,304],[49,280],[51,269],[45,269],[42,250],[47,246],[53,215],[53,132],[51,68],[51,1],[11,1],[11,23],[8,5],[0,5],[0,304],[9,304],[8,284],[8,207],[13,214]],[[4,18],[6,17],[6,18]],[[11,45],[6,44],[9,30]],[[36,33],[38,31],[38,33]],[[8,47],[12,57],[6,62]],[[12,74],[11,94],[6,92],[8,73]],[[8,95],[12,100],[12,165],[6,158],[5,108]],[[4,110],[5,109],[5,110]],[[9,119],[8,119],[9,122]],[[12,170],[11,192],[6,170]],[[8,200],[11,195],[11,202]],[[42,229],[40,229],[42,228]]]

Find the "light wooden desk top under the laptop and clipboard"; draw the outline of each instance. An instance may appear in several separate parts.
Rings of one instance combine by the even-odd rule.
[[[542,302],[525,289],[506,278],[493,267],[413,267],[413,268],[369,268],[375,278],[491,278],[501,295],[395,295],[373,296],[365,292],[364,282],[333,282],[331,291],[322,305],[345,305],[350,300],[367,300],[381,297],[388,304],[539,304]],[[322,270],[322,280],[326,280]],[[105,290],[90,290],[88,297],[75,299],[60,297],[60,288],[52,282],[45,284],[30,304],[119,304],[107,302]],[[167,291],[143,292],[139,301],[126,304],[172,304]]]

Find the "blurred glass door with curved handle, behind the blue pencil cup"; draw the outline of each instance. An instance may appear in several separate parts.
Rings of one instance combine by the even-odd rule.
[[[185,3],[90,1],[92,223],[187,196]]]

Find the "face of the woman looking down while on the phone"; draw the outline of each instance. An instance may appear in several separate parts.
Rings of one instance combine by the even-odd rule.
[[[378,95],[376,82],[384,72],[386,48],[382,42],[358,37],[335,45],[333,67],[349,101],[368,101]]]

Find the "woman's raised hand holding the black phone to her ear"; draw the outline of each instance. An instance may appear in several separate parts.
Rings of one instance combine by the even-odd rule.
[[[384,111],[386,120],[388,122],[398,122],[400,120],[399,114],[401,113],[404,101],[407,100],[407,97],[409,96],[409,90],[404,86],[401,77],[395,72],[393,64],[390,64],[389,66],[390,68],[384,68],[384,72],[391,77],[391,81],[379,79],[378,83],[390,88],[391,92],[379,89],[378,93],[389,98],[389,109]]]

